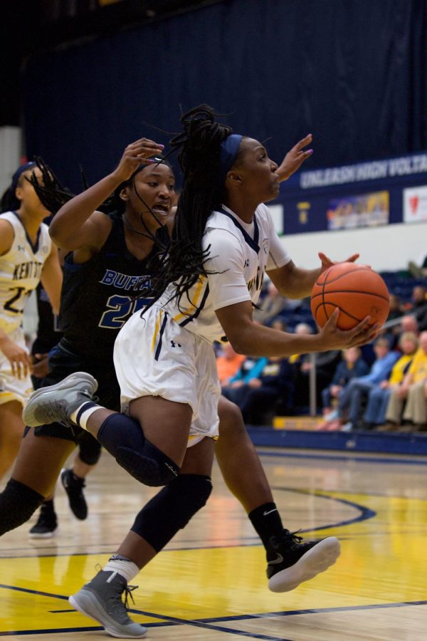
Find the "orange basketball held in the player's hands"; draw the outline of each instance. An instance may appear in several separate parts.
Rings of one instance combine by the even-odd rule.
[[[366,316],[383,325],[389,315],[389,291],[379,273],[366,265],[339,263],[320,274],[312,288],[311,311],[319,327],[339,308],[337,326],[354,328]]]

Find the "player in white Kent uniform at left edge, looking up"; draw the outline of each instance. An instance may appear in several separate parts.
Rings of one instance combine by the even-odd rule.
[[[22,406],[33,390],[31,357],[23,336],[26,300],[41,281],[59,311],[62,272],[58,251],[43,219],[49,212],[26,179],[36,163],[14,173],[1,199],[0,214],[0,479],[18,454],[24,425]]]

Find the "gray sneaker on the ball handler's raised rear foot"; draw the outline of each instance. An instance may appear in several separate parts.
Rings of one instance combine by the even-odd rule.
[[[33,392],[23,408],[22,419],[28,427],[59,422],[73,426],[70,415],[85,401],[92,400],[97,381],[86,372],[75,372],[56,385]]]

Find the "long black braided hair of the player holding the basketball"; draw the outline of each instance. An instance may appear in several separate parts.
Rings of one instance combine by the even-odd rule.
[[[209,105],[199,105],[181,117],[184,130],[170,141],[172,150],[178,150],[178,160],[184,172],[183,188],[172,229],[169,254],[157,274],[152,277],[149,291],[152,297],[146,309],[152,306],[167,288],[174,284],[175,291],[169,301],[186,295],[200,276],[206,276],[209,247],[202,248],[206,221],[211,212],[221,205],[223,184],[219,176],[219,150],[223,140],[233,130],[216,123],[216,114]]]

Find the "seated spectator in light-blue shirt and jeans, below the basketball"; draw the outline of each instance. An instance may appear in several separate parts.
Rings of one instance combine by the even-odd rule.
[[[325,417],[329,422],[327,429],[330,431],[340,429],[342,432],[351,432],[359,426],[363,412],[362,403],[369,390],[389,377],[394,363],[399,359],[399,353],[390,350],[389,341],[382,337],[376,339],[374,353],[376,360],[371,365],[369,374],[352,378],[339,392],[337,410]]]

